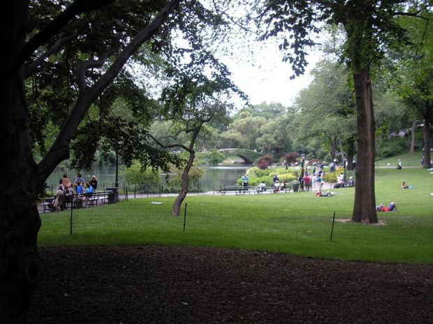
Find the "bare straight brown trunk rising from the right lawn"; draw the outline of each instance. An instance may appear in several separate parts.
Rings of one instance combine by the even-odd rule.
[[[352,221],[377,223],[374,193],[374,114],[369,66],[353,74],[358,129],[355,203]]]

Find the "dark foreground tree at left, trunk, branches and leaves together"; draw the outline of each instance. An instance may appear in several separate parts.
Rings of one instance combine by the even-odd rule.
[[[177,82],[177,87],[164,91],[166,102],[182,101],[182,91],[170,90],[182,89],[189,80],[214,82],[218,91],[233,84],[225,66],[203,46],[203,29],[197,29],[223,21],[198,1],[7,0],[2,8],[0,152],[7,177],[0,189],[0,322],[24,323],[42,275],[37,251],[38,190],[52,170],[70,157],[71,144],[81,139],[86,145],[81,147],[86,151],[85,163],[91,161],[97,143],[111,148],[121,145],[124,161],[137,158],[143,165],[163,170],[170,162],[179,165],[175,156],[149,145],[141,122],[110,115],[122,91],[129,91],[124,98],[131,99],[135,116],[147,114],[140,110],[142,105],[133,105],[137,87],[128,79],[131,74],[121,73],[127,61],[139,57],[147,42],[152,51],[166,55],[166,75]],[[173,45],[173,34],[184,36],[189,47]],[[185,62],[181,57],[186,54]],[[203,73],[209,68],[212,78]],[[28,98],[30,104],[28,93],[34,95]],[[146,99],[145,107],[152,107],[154,101]],[[96,107],[99,114],[93,110]],[[96,132],[99,123],[92,122],[95,115],[111,119],[101,133]],[[50,147],[45,147],[44,132],[37,129],[45,130],[45,124],[59,130]],[[89,136],[82,135],[86,133]],[[34,143],[41,148],[38,163]]]

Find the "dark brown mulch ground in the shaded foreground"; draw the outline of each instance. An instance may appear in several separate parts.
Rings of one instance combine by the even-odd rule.
[[[433,323],[433,265],[174,246],[41,258],[29,323]]]

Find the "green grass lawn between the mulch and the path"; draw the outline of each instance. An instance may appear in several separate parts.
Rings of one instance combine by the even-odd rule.
[[[413,189],[399,189],[403,180]],[[336,196],[321,198],[313,192],[188,196],[186,213],[184,206],[179,217],[170,216],[174,198],[161,197],[77,209],[72,215],[47,213],[41,215],[39,245],[220,246],[314,258],[433,263],[433,174],[405,168],[404,162],[402,170],[376,168],[376,202],[395,201],[399,209],[379,213],[380,226],[343,222],[351,218],[354,190],[334,189]],[[338,221],[332,228],[334,213]]]

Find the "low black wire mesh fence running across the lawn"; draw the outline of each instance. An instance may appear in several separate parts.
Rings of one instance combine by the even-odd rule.
[[[172,202],[143,198],[41,213],[41,238],[63,235],[185,233],[251,240],[398,240],[433,243],[433,216],[381,214],[375,226],[350,221],[348,214],[289,207],[233,207],[215,203],[184,204],[172,216]]]

